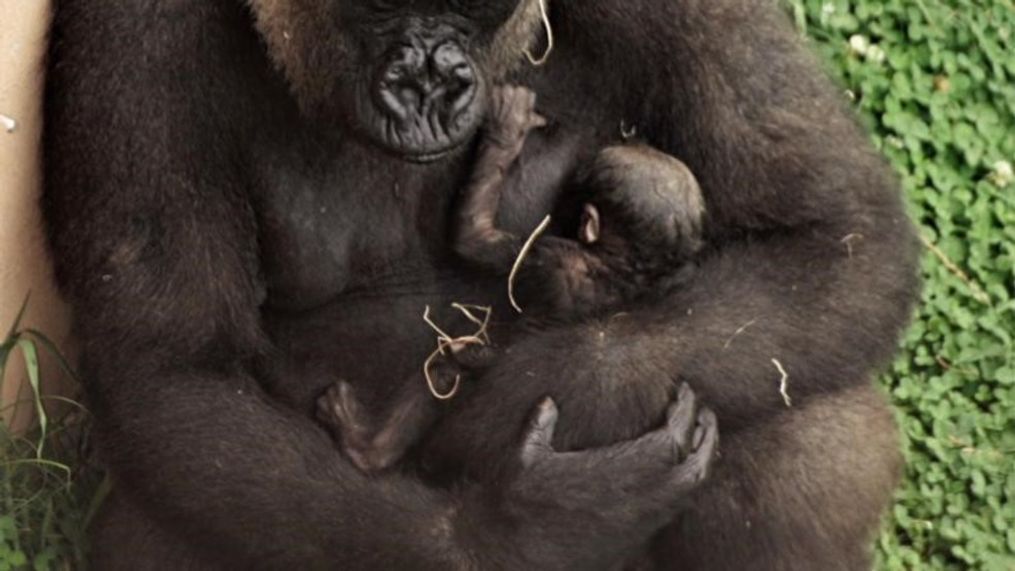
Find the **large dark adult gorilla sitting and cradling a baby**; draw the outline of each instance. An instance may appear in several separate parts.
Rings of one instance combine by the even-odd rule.
[[[538,0],[58,2],[45,207],[119,492],[95,566],[866,567],[898,465],[869,376],[916,249],[773,4],[554,0],[555,49],[533,67]],[[510,314],[448,243],[501,80],[550,122],[501,227],[527,233],[623,126],[690,165],[712,247],[664,302],[519,339],[518,382],[456,406],[515,454],[544,395],[561,430],[598,415],[644,431],[663,411],[626,391],[686,381],[724,444],[685,510],[687,418],[605,448],[554,441],[593,447],[543,446],[498,487],[367,478],[310,418],[340,377],[383,411],[432,350],[424,305]],[[552,428],[539,418],[530,442]]]

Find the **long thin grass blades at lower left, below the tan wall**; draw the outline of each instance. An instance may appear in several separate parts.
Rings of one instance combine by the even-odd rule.
[[[19,351],[31,394],[0,403],[0,413],[31,406],[38,423],[20,434],[0,422],[0,571],[79,568],[84,530],[104,495],[83,449],[87,412],[74,401],[43,394],[40,349],[73,372],[46,336],[19,329],[26,306],[27,300],[0,343],[0,381]],[[54,416],[50,409],[62,412]]]

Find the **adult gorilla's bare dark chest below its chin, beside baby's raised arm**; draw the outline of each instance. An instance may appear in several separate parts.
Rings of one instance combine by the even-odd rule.
[[[532,137],[509,172],[502,227],[527,234],[552,211],[573,169],[579,139]],[[404,295],[411,293],[407,284],[432,289],[433,274],[454,274],[449,223],[472,154],[431,165],[376,154],[330,160],[300,154],[266,163],[254,203],[268,305],[308,310],[363,288]],[[452,279],[462,280],[469,278]]]

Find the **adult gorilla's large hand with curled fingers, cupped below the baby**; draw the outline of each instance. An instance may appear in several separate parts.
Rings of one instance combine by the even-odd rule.
[[[699,407],[686,384],[667,410],[666,424],[634,440],[580,451],[557,451],[559,411],[552,399],[536,409],[521,448],[521,468],[504,509],[540,546],[540,565],[612,568],[673,521],[716,457],[716,415]],[[566,537],[561,522],[583,522]],[[522,541],[520,545],[528,545]],[[559,553],[547,553],[554,546]],[[547,561],[545,558],[551,558]]]

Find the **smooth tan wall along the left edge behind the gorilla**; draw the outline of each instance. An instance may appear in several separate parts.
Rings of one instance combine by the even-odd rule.
[[[48,0],[0,0],[0,335],[7,333],[25,295],[31,301],[23,326],[68,345],[67,308],[52,284],[39,215],[43,58],[50,18]],[[11,125],[11,121],[14,125]],[[24,386],[19,358],[7,367],[0,403],[8,406]],[[44,363],[47,390],[68,392],[53,363]],[[7,410],[3,420],[23,427],[30,407]]]

